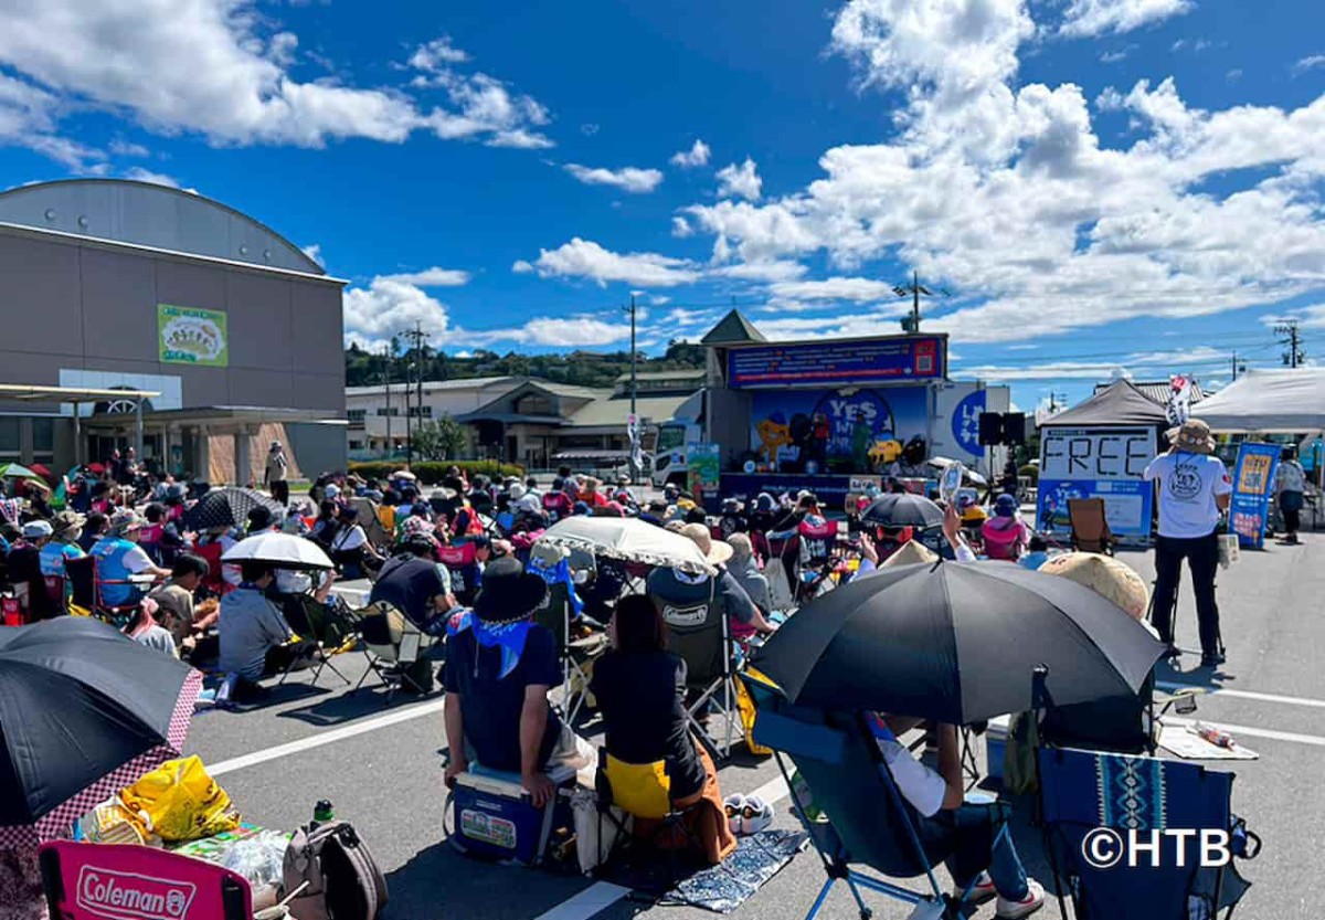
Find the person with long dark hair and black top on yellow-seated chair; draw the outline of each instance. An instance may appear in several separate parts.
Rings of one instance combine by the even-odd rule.
[[[666,650],[666,622],[652,601],[632,594],[616,606],[608,632],[612,648],[595,663],[591,683],[606,726],[604,749],[624,764],[665,762],[674,807],[708,803],[693,830],[708,862],[717,864],[735,848],[735,838],[713,760],[688,728],[685,661]]]

